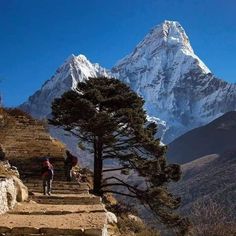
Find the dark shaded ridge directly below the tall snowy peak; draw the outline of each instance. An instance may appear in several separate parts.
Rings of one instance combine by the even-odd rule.
[[[236,112],[228,112],[211,123],[180,136],[168,145],[170,162],[187,163],[235,148]]]

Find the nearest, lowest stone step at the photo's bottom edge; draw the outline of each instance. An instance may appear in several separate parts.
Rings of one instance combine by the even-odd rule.
[[[4,214],[0,216],[0,221],[0,235],[102,236],[106,214],[104,212],[47,216]]]

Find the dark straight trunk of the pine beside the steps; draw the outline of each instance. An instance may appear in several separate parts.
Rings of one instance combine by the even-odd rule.
[[[101,138],[94,139],[94,180],[93,180],[93,193],[101,195],[101,184],[102,184],[102,152],[103,144]]]

